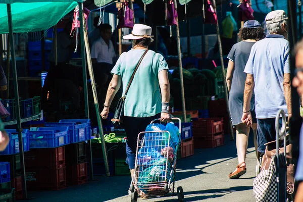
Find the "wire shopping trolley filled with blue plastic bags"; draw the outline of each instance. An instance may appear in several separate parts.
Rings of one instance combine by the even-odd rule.
[[[160,119],[151,121],[153,124]],[[131,182],[131,201],[135,202],[138,195],[149,198],[174,194],[177,150],[181,142],[181,120],[179,137],[173,139],[169,131],[140,132],[138,134],[134,177]],[[178,200],[183,201],[183,188],[177,188]]]

